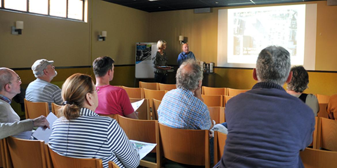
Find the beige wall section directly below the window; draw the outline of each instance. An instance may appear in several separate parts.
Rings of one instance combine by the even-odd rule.
[[[24,21],[22,35],[12,35],[16,20]],[[40,58],[55,66],[90,64],[90,23],[0,10],[0,67],[31,67]]]

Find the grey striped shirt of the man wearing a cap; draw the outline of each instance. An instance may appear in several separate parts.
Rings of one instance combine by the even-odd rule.
[[[25,98],[33,102],[48,102],[49,111],[52,111],[52,103],[62,104],[61,89],[47,81],[37,78],[30,82],[26,89]]]

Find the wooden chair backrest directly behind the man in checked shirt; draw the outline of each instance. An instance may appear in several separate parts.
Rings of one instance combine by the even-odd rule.
[[[160,148],[165,158],[210,167],[208,130],[178,129],[159,124]]]

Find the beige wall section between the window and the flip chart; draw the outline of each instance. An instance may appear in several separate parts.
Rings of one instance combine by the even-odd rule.
[[[135,64],[136,42],[148,42],[149,13],[105,1],[93,1],[92,61],[111,56],[116,65]],[[97,41],[107,31],[106,41]]]

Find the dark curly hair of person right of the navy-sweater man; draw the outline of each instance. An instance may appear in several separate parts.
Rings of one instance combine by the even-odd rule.
[[[309,75],[303,66],[295,66],[290,71],[293,72],[292,80],[287,84],[287,89],[302,93],[308,88]]]

